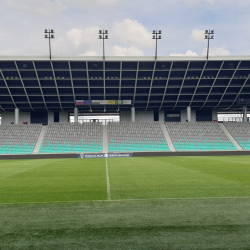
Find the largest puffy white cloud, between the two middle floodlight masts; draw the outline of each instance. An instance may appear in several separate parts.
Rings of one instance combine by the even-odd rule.
[[[133,44],[143,47],[154,45],[151,32],[148,32],[137,20],[125,19],[122,22],[116,22],[113,34],[116,39],[129,45]]]

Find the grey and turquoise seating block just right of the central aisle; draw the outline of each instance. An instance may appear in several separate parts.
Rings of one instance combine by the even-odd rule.
[[[109,152],[169,151],[159,122],[108,124]]]

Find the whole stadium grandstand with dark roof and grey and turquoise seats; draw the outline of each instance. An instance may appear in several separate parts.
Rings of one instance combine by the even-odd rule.
[[[0,154],[249,150],[249,78],[249,56],[1,57]]]

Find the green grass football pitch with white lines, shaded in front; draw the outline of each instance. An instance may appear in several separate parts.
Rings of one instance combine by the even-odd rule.
[[[0,249],[250,249],[250,157],[0,161]]]

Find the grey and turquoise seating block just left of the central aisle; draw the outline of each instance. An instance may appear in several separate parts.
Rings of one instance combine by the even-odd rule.
[[[48,125],[39,153],[102,152],[102,123]]]

